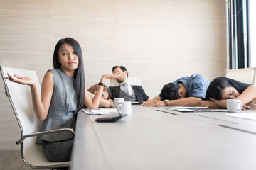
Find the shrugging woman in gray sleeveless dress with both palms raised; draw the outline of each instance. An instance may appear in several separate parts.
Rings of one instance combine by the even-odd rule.
[[[41,131],[58,128],[75,130],[76,113],[84,105],[97,109],[105,80],[119,77],[119,74],[104,74],[95,97],[91,98],[85,90],[82,50],[73,38],[58,41],[53,54],[53,67],[43,77],[41,96],[33,79],[16,74],[6,77],[10,81],[31,86],[33,109],[37,118],[43,121]],[[48,160],[63,162],[70,160],[73,138],[70,132],[62,132],[38,137],[36,143],[43,145]]]

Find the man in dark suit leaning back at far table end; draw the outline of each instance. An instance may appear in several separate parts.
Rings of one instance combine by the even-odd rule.
[[[120,73],[120,77],[117,78],[120,85],[109,87],[112,100],[114,98],[124,98],[124,101],[147,101],[149,99],[142,86],[133,86],[129,83],[128,72],[125,67],[114,66],[112,72]]]

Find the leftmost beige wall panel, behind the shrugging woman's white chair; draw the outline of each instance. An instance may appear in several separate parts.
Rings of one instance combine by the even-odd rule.
[[[33,69],[43,79],[51,63],[51,1],[0,1],[0,64]],[[0,81],[0,150],[18,150],[20,129]]]

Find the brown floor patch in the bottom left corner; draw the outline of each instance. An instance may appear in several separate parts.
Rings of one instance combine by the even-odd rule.
[[[1,170],[31,170],[21,159],[19,151],[0,152]],[[46,170],[46,169],[44,169]]]

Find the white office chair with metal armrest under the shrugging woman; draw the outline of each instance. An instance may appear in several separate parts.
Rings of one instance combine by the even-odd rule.
[[[6,96],[9,98],[11,107],[21,129],[21,138],[16,144],[21,144],[21,157],[23,161],[34,169],[57,169],[70,166],[71,162],[50,162],[43,154],[43,146],[36,144],[36,137],[55,132],[74,131],[70,128],[58,130],[48,130],[46,132],[38,132],[41,127],[41,122],[36,118],[33,111],[31,98],[31,89],[27,85],[16,84],[6,80],[7,73],[18,74],[24,77],[31,77],[36,81],[40,89],[40,84],[36,71],[13,69],[0,66],[1,77],[4,81]]]

